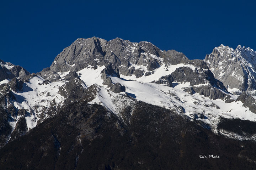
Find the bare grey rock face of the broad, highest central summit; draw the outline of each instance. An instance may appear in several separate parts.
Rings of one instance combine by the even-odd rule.
[[[159,68],[162,64],[174,65],[186,63],[188,58],[175,50],[161,51],[150,42],[130,42],[116,38],[110,41],[92,37],[77,39],[66,47],[54,60],[50,68],[42,70],[39,74],[48,78],[47,74],[67,71],[79,71],[87,66],[112,65],[114,70],[125,76],[135,75],[142,77],[145,67],[148,71]],[[47,73],[47,74],[46,74]],[[150,72],[147,75],[151,74]],[[51,79],[53,79],[51,77]]]

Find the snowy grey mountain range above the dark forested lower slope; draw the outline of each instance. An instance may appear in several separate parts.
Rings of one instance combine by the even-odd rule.
[[[252,49],[221,45],[204,61],[189,60],[183,53],[162,51],[150,42],[92,37],[77,39],[49,68],[36,74],[1,61],[0,146],[35,127],[55,127],[51,124],[55,121],[81,129],[75,137],[80,143],[81,136],[88,140],[104,136],[91,129],[103,117],[114,119],[114,127],[124,135],[133,128],[135,117],[142,119],[136,113],[151,108],[215,135],[255,141],[256,131],[247,128],[256,125],[255,57]],[[140,111],[142,106],[147,106],[145,111]],[[72,108],[70,115],[68,108]],[[85,122],[84,112],[91,113]],[[97,114],[101,116],[92,121]],[[57,137],[52,139],[61,152]]]

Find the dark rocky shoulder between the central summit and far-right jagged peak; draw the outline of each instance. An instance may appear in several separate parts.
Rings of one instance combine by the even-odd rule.
[[[210,99],[225,98],[229,93],[223,83],[214,78],[213,73],[208,69],[203,60],[191,60],[186,64],[194,67],[178,67],[174,72],[164,77],[161,77],[153,83],[165,84],[172,87],[173,82],[176,83],[190,83],[189,87],[183,90],[189,94],[197,92],[199,95],[209,97]],[[225,93],[223,93],[223,91]]]

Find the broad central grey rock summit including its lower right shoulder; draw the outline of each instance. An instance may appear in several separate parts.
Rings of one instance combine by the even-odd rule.
[[[216,50],[223,51],[223,48],[228,47],[221,45],[219,48]],[[55,58],[50,69],[43,70],[40,75],[55,81],[61,78],[59,74],[84,72],[90,68],[101,68],[98,72],[101,79],[98,81],[108,88],[115,84],[111,77],[122,77],[168,86],[172,86],[172,82],[189,82],[183,87],[184,91],[191,89],[191,94],[198,92],[211,99],[226,97],[218,89],[228,93],[204,61],[190,61],[183,53],[175,50],[162,51],[151,42],[130,42],[121,38],[110,41],[96,37],[77,39]],[[52,76],[49,77],[49,74]]]

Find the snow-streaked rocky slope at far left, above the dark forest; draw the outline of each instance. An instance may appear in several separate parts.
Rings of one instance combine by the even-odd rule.
[[[24,82],[16,78],[0,85],[1,124],[9,135],[4,140],[10,140],[25,134],[45,119],[55,115],[66,105],[81,100],[86,85],[75,73],[56,73],[61,78],[50,82],[36,74],[28,75]],[[80,96],[81,98],[79,98]],[[18,134],[13,135],[13,134]],[[5,141],[1,141],[5,143]]]

